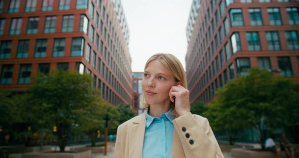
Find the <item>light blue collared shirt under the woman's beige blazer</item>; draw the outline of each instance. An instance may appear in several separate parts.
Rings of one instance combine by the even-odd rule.
[[[171,157],[173,123],[175,116],[171,110],[161,117],[153,117],[146,111],[146,127],[143,140],[142,157]]]

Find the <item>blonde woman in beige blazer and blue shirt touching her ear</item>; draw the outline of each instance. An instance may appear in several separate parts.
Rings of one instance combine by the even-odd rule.
[[[144,67],[147,111],[118,127],[115,157],[223,157],[208,120],[191,114],[186,74],[171,54]]]

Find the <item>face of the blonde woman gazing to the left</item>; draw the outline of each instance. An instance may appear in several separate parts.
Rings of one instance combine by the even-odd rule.
[[[142,78],[142,91],[149,105],[170,105],[169,91],[177,86],[174,76],[159,60],[148,63]]]

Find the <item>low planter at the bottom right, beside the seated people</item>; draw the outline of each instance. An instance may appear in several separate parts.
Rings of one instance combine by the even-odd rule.
[[[232,156],[237,158],[275,158],[275,153],[271,151],[255,151],[255,150],[247,150],[243,148],[232,148],[231,150]],[[284,151],[281,152],[281,157],[287,157]],[[295,153],[295,157],[298,158],[298,152]]]

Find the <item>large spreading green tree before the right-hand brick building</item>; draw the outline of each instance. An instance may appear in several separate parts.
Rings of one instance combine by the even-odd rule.
[[[215,117],[213,124],[222,125],[219,126],[222,129],[253,127],[264,148],[267,130],[286,125],[290,109],[297,108],[294,106],[299,98],[297,87],[267,70],[252,68],[248,75],[239,76],[219,90],[206,114]]]

